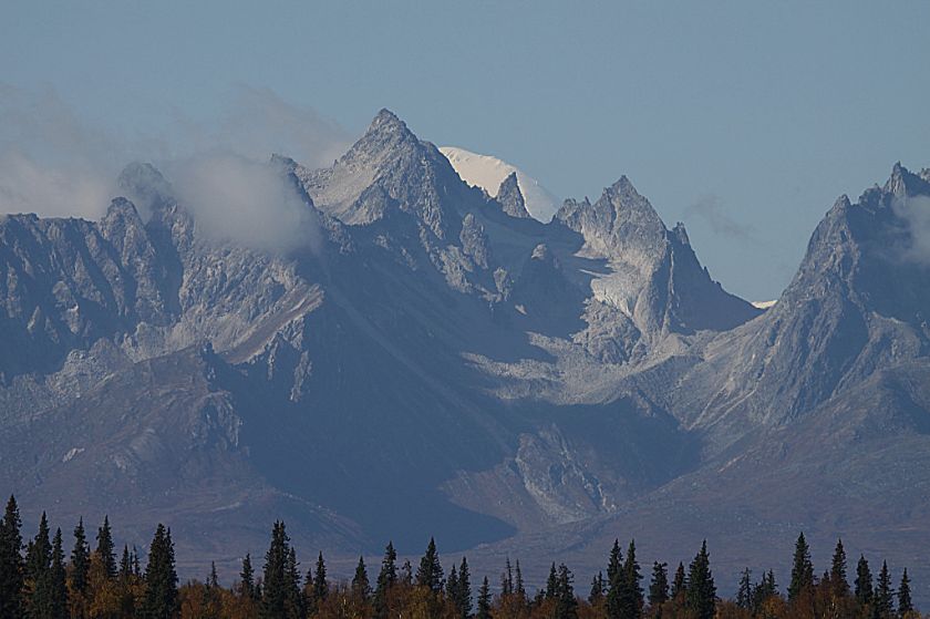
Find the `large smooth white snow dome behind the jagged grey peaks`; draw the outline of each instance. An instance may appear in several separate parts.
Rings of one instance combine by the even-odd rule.
[[[442,146],[440,152],[458,173],[458,176],[469,185],[480,187],[494,197],[500,183],[512,172],[517,173],[517,185],[524,196],[526,209],[534,219],[549,221],[559,209],[559,199],[531,176],[524,174],[518,167],[490,155],[479,155],[455,146]]]

